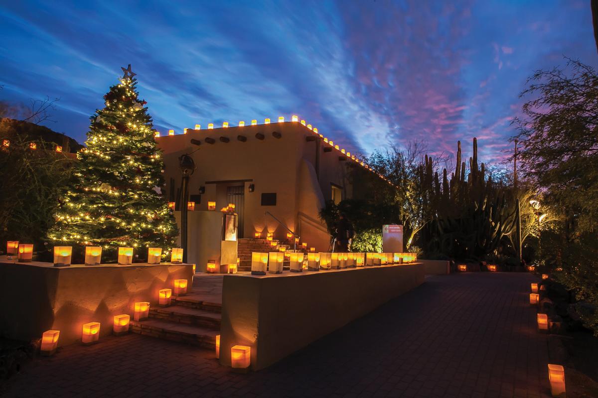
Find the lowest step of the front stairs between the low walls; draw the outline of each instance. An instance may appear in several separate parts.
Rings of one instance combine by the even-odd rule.
[[[220,334],[216,329],[161,319],[132,320],[131,332],[212,349],[216,347],[216,335]]]

